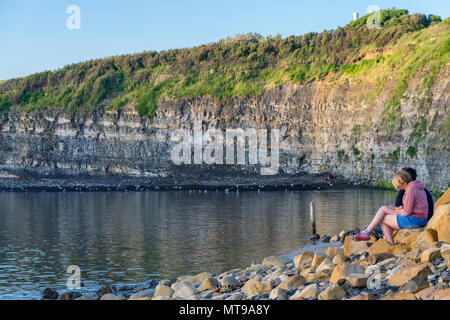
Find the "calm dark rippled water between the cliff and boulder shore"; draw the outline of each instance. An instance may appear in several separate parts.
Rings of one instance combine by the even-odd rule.
[[[148,191],[0,193],[0,299],[66,289],[69,265],[85,287],[219,273],[369,223],[392,191]]]

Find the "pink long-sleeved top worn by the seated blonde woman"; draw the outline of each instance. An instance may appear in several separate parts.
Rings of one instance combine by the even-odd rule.
[[[426,219],[428,216],[428,201],[425,193],[425,185],[418,181],[411,181],[406,185],[403,196],[403,209],[401,215]]]

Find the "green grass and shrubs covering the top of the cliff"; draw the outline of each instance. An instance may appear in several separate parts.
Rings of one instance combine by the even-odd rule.
[[[19,105],[24,110],[63,107],[75,112],[131,103],[139,114],[151,118],[163,97],[209,95],[226,100],[262,94],[287,82],[321,81],[328,75],[334,79],[370,75],[383,90],[386,78],[394,76],[398,84],[383,118],[390,130],[398,120],[397,107],[408,80],[427,70],[423,86],[429,89],[448,62],[450,20],[382,10],[382,27],[369,29],[370,17],[333,31],[287,38],[238,35],[190,49],[115,56],[3,81],[0,111]],[[387,48],[392,52],[366,57]]]

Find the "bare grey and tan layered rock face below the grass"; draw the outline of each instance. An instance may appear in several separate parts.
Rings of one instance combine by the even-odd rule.
[[[204,131],[278,129],[278,175],[330,172],[374,184],[390,181],[395,171],[411,166],[428,188],[444,189],[450,144],[441,128],[448,122],[448,75],[447,67],[431,88],[426,108],[419,107],[422,96],[411,87],[398,110],[401,120],[389,134],[382,120],[387,94],[367,101],[364,95],[374,91],[373,86],[351,81],[288,84],[227,103],[209,97],[166,98],[153,119],[139,116],[131,105],[74,115],[61,108],[24,112],[13,107],[0,114],[0,177],[22,177],[24,170],[37,176],[119,174],[150,179],[229,171],[260,174],[260,165],[248,159],[245,165],[175,164],[171,151],[179,142],[172,139],[174,130],[194,129],[200,119]],[[408,155],[421,117],[426,119],[425,134],[417,152]],[[270,140],[268,146],[271,149]]]

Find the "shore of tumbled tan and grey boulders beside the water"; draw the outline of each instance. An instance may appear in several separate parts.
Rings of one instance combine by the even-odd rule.
[[[394,244],[375,232],[354,241],[357,230],[323,235],[324,250],[269,256],[221,274],[150,280],[140,287],[102,286],[95,293],[59,294],[59,300],[449,300],[450,189],[422,228],[399,230]]]

